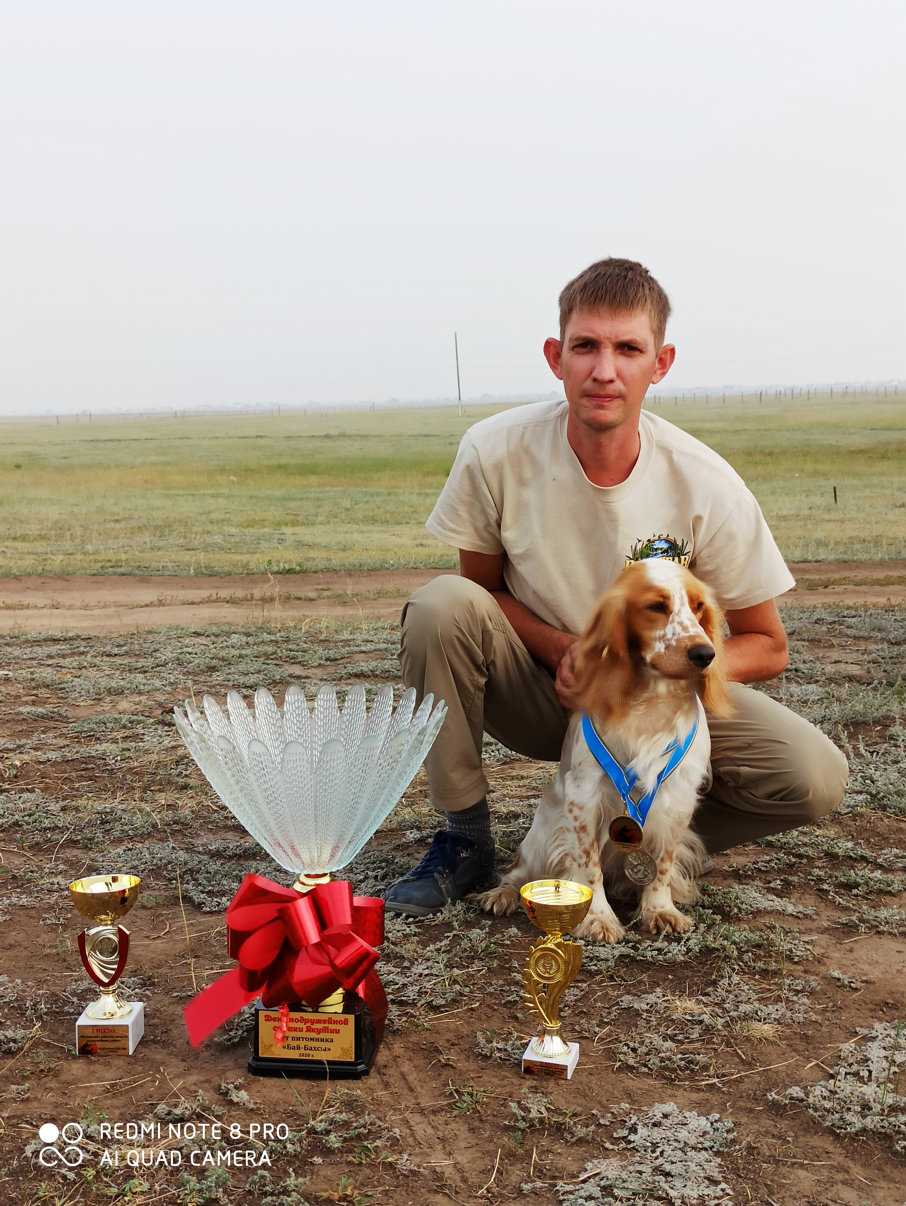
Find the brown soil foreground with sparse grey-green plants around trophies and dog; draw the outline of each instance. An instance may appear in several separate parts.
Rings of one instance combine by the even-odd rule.
[[[869,576],[865,566],[858,575]],[[407,579],[401,593],[410,589]],[[223,911],[242,874],[286,877],[214,796],[171,708],[191,692],[249,697],[292,680],[309,697],[322,683],[364,681],[373,693],[397,680],[398,630],[358,614],[355,624],[281,630],[256,615],[242,625],[230,607],[233,624],[221,627],[0,636],[8,1201],[902,1206],[904,608],[787,611],[793,661],[768,690],[847,751],[844,804],[819,825],[718,856],[689,935],[631,930],[618,947],[586,944],[565,999],[566,1029],[581,1044],[571,1082],[520,1072],[533,1031],[519,996],[528,921],[458,904],[391,923],[387,1038],[367,1079],[325,1085],[249,1076],[245,1018],[199,1050],[187,1042],[183,1003],[230,966]],[[553,767],[490,740],[485,753],[505,862]],[[356,890],[379,894],[434,824],[420,775],[350,868]],[[66,885],[104,871],[142,878],[127,921],[127,987],[146,1002],[146,1034],[131,1058],[80,1059],[74,1023],[94,993]],[[75,1120],[83,1165],[42,1167],[39,1126]],[[179,1167],[129,1167],[140,1144],[101,1136],[104,1123],[152,1120],[164,1135],[154,1149],[179,1151]],[[168,1140],[170,1120],[194,1124],[197,1137]],[[244,1138],[203,1138],[214,1122]],[[250,1125],[264,1123],[290,1136],[250,1140]],[[253,1152],[255,1167],[193,1166],[193,1152],[200,1161],[217,1147]],[[99,1164],[105,1148],[118,1151],[118,1166]]]

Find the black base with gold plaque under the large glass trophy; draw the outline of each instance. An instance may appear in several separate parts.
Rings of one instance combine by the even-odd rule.
[[[282,1043],[280,1011],[258,1006],[249,1071],[252,1076],[287,1076],[305,1081],[360,1081],[378,1054],[368,1006],[356,993],[344,993],[343,1007],[310,1009],[290,1006],[290,1029]]]

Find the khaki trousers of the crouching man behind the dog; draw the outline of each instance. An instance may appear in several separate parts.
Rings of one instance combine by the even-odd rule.
[[[449,574],[403,608],[403,681],[433,691],[449,712],[427,759],[431,801],[458,812],[487,792],[481,734],[508,749],[560,760],[568,714],[554,680],[493,597]],[[714,781],[692,822],[712,853],[808,825],[843,798],[846,759],[808,721],[752,687],[730,684],[736,713],[708,716]]]

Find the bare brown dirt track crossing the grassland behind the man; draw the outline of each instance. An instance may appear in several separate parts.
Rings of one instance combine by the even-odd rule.
[[[781,607],[906,603],[906,562],[790,564]],[[444,569],[374,569],[224,578],[43,574],[0,579],[0,632],[121,632],[169,625],[279,622],[310,616],[396,620],[403,601]]]

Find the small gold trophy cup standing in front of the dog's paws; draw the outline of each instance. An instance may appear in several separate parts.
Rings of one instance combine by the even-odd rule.
[[[560,1034],[560,997],[581,967],[581,947],[563,938],[589,912],[591,889],[571,879],[536,879],[520,895],[528,919],[544,937],[528,952],[522,973],[522,1000],[540,1018],[542,1032],[522,1055],[522,1071],[568,1081],[579,1062],[579,1044]]]

